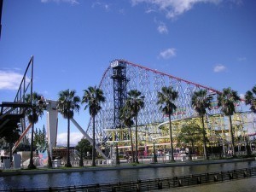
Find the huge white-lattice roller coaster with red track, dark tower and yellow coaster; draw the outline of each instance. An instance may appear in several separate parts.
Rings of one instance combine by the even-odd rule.
[[[153,146],[155,143],[160,148],[170,148],[168,117],[160,112],[156,104],[157,93],[163,86],[170,85],[178,92],[175,103],[177,110],[171,117],[174,140],[183,124],[194,121],[201,125],[200,117],[191,107],[191,96],[195,91],[203,89],[213,97],[211,110],[207,110],[205,118],[207,137],[215,140],[215,144],[221,142],[228,145],[230,124],[218,108],[217,101],[221,91],[125,60],[111,61],[99,84],[106,102],[102,103],[102,110],[96,115],[96,143],[107,148],[118,144],[119,148],[131,150],[128,128],[120,121],[119,110],[123,107],[127,92],[139,90],[145,96],[145,106],[138,114],[139,147]],[[236,103],[236,114],[232,116],[235,137],[245,138],[255,134],[253,113],[246,109],[242,99]],[[131,129],[134,133],[135,127]],[[88,135],[91,135],[91,130],[90,122],[86,130]]]

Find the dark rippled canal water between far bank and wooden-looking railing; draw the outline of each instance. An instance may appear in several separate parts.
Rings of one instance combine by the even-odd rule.
[[[183,176],[205,172],[220,172],[256,166],[256,161],[198,166],[170,166],[139,169],[102,170],[91,172],[62,172],[0,177],[0,189],[37,189],[95,183],[115,183]]]

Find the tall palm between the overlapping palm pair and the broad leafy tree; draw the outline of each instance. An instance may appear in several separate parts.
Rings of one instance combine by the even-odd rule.
[[[176,110],[176,105],[174,104],[177,99],[178,93],[176,90],[173,90],[172,86],[164,86],[161,91],[157,93],[158,101],[157,105],[160,106],[160,111],[168,115],[169,119],[169,133],[170,133],[170,146],[171,146],[171,161],[174,160],[173,156],[173,140],[172,140],[172,119],[171,115]]]

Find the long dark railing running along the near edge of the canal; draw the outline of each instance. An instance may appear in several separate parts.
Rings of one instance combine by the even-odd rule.
[[[9,189],[9,191],[149,191],[160,189],[173,189],[185,186],[195,186],[208,183],[221,183],[234,179],[256,177],[256,167],[236,169],[225,172],[209,172],[179,177],[165,177],[131,182],[102,183],[68,187],[49,187],[44,189]]]

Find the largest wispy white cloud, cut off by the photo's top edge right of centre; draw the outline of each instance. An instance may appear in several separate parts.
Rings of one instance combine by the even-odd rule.
[[[131,0],[132,5],[137,5],[138,3],[148,3],[154,8],[164,11],[166,17],[173,19],[178,15],[193,9],[196,3],[214,3],[218,4],[223,0]]]

